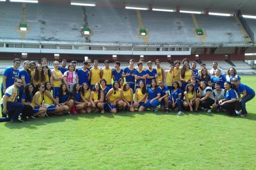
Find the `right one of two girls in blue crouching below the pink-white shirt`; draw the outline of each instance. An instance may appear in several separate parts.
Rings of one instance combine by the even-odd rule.
[[[87,106],[87,103],[81,102],[80,86],[78,83],[75,83],[73,85],[72,96],[74,99],[76,113],[86,113],[84,108]]]

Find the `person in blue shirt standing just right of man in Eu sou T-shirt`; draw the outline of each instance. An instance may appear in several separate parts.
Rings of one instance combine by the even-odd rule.
[[[19,75],[19,78],[21,78],[21,80],[22,80],[22,86],[20,86],[20,88],[19,88],[20,94],[19,94],[18,101],[21,101],[21,97],[22,97],[24,88],[25,88],[26,84],[28,84],[30,82],[29,68],[30,68],[30,62],[24,61],[23,68],[20,70],[20,75]]]

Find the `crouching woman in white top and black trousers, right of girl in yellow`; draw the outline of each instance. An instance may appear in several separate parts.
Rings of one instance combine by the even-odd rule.
[[[200,81],[199,87],[198,87],[198,97],[196,98],[196,108],[195,112],[197,111],[199,105],[202,106],[202,109],[204,111],[207,111],[208,113],[212,111],[211,106],[214,104],[214,96],[212,92],[212,88],[209,87],[208,83],[206,81]]]

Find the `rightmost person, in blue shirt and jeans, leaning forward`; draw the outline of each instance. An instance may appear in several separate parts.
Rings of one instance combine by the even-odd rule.
[[[240,116],[247,116],[245,103],[254,98],[255,92],[251,87],[239,83],[237,78],[233,78],[232,83],[234,85],[234,90],[238,93],[238,100],[242,107],[242,114]],[[241,94],[243,94],[243,96],[241,96]]]

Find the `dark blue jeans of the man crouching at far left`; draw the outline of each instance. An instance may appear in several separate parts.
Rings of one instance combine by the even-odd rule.
[[[6,106],[8,117],[0,118],[0,122],[10,122],[10,120],[17,120],[24,107],[24,104],[18,102],[6,102]],[[3,109],[3,104],[1,104],[1,107]]]

